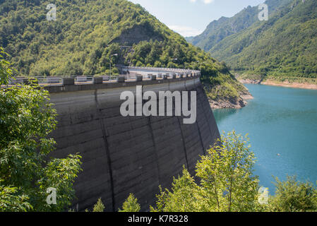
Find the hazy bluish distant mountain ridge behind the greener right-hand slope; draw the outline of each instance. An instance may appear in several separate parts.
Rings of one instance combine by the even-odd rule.
[[[274,13],[281,6],[289,4],[293,0],[267,0],[269,14]],[[249,28],[253,23],[258,21],[258,6],[248,6],[237,13],[232,18],[222,17],[219,20],[211,22],[201,35],[196,37],[186,37],[188,42],[209,51],[218,42],[229,35]]]

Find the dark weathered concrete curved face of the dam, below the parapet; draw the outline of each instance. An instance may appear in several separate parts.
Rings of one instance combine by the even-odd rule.
[[[123,91],[196,91],[197,120],[183,117],[123,117]],[[104,83],[46,87],[57,111],[52,132],[56,150],[52,157],[79,153],[83,172],[74,184],[73,208],[92,208],[102,198],[107,211],[116,211],[129,194],[141,210],[154,205],[155,194],[170,188],[183,166],[191,175],[196,162],[220,133],[199,78],[135,83]],[[190,103],[190,102],[189,102]]]

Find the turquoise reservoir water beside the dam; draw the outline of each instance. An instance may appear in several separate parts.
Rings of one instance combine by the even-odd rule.
[[[317,181],[317,90],[246,85],[254,99],[243,109],[214,110],[220,133],[249,133],[261,186],[274,193],[273,175]]]

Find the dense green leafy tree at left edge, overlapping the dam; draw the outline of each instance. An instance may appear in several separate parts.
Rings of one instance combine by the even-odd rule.
[[[0,61],[0,85],[8,84],[9,66]],[[49,93],[38,85],[0,89],[0,212],[61,211],[71,204],[80,156],[49,159],[55,117]],[[56,189],[56,205],[47,204],[48,188]]]

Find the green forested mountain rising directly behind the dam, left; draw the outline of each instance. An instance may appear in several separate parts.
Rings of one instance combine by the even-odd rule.
[[[56,20],[47,20],[47,4]],[[1,1],[0,46],[25,76],[108,73],[117,53],[112,64],[200,69],[214,100],[235,102],[245,91],[224,63],[126,0]]]

